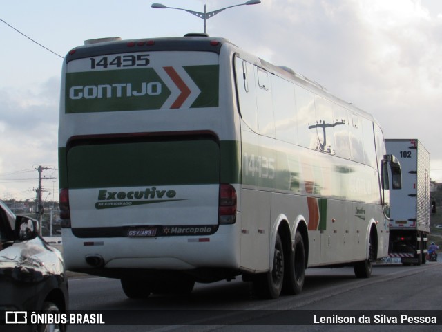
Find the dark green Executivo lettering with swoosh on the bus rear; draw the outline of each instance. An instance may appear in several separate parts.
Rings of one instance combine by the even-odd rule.
[[[182,199],[174,199],[176,195],[175,190],[158,190],[156,187],[146,188],[145,190],[129,190],[127,192],[100,189],[95,208],[121,208],[131,205],[182,201]]]

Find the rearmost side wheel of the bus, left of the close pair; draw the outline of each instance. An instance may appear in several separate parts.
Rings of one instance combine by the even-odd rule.
[[[254,282],[254,291],[263,299],[277,299],[282,291],[284,282],[284,247],[279,234],[276,234],[273,268],[267,273],[257,275]]]

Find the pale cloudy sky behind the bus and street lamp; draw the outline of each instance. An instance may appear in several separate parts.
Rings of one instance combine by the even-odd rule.
[[[245,0],[156,0],[199,12]],[[4,1],[0,19],[0,199],[58,199],[62,57],[86,39],[182,36],[203,20],[145,0]],[[385,138],[417,138],[442,182],[442,1],[262,0],[220,12],[207,33],[309,77],[372,113]],[[61,57],[60,57],[61,56]]]

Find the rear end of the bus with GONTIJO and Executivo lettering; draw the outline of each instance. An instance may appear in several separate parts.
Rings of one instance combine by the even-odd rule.
[[[105,41],[66,56],[59,178],[69,270],[128,288],[238,268],[238,115],[231,93],[220,93],[231,84],[222,44]]]

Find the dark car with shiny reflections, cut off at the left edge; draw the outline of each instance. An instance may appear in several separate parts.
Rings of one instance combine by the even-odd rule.
[[[0,331],[64,331],[62,324],[10,325],[6,311],[66,313],[68,279],[59,250],[38,234],[37,221],[0,201]],[[8,314],[10,315],[10,314]],[[28,315],[29,316],[29,315]],[[28,317],[29,319],[29,317]]]

